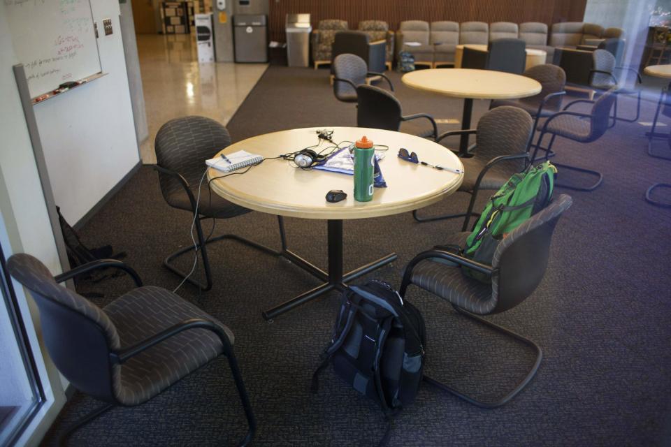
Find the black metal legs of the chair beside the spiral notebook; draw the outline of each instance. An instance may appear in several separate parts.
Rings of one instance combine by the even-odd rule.
[[[284,221],[282,221],[280,217],[280,237],[282,238],[282,247],[284,248],[284,245],[286,244],[286,237],[284,235]],[[212,244],[212,242],[217,242],[219,240],[224,240],[224,239],[229,239],[229,240],[235,240],[237,242],[240,242],[241,244],[247,245],[247,247],[252,247],[254,249],[264,251],[267,254],[273,255],[273,256],[280,256],[282,253],[277,250],[273,250],[270,247],[266,247],[263,244],[259,244],[258,242],[254,242],[253,240],[249,240],[245,237],[241,237],[238,235],[231,235],[231,234],[226,234],[226,235],[220,235],[217,237],[212,237],[211,239],[205,240],[205,237],[203,236],[203,228],[201,226],[201,219],[196,219],[196,236],[198,237],[198,245],[197,245],[197,250],[201,252],[201,259],[203,261],[203,266],[205,267],[205,284],[203,282],[194,279],[192,277],[187,278],[187,282],[190,284],[193,284],[196,287],[201,288],[203,291],[209,291],[212,288],[212,269],[210,268],[210,260],[208,258],[208,251],[207,251],[207,245]],[[178,251],[175,251],[174,253],[168,255],[164,261],[163,265],[170,270],[171,272],[177,274],[178,276],[185,278],[187,277],[187,272],[184,272],[183,270],[180,270],[176,268],[172,261],[175,260],[175,258],[178,258],[179,256],[182,256],[185,253],[189,253],[194,251],[196,247],[193,245],[190,245],[189,247],[185,247],[182,249],[179,249]]]

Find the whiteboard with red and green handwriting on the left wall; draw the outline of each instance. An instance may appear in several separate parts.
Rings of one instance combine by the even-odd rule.
[[[89,0],[3,0],[30,96],[100,73]]]

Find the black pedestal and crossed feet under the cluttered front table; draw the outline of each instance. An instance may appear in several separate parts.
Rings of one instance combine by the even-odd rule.
[[[300,256],[288,251],[283,250],[282,256],[289,259],[298,265],[298,267],[303,268],[307,272],[313,274],[315,277],[325,281],[324,284],[313,288],[310,291],[301,293],[296,298],[282,303],[281,305],[275,306],[272,309],[269,309],[265,312],[262,312],[261,315],[266,320],[272,320],[276,316],[284,314],[284,312],[289,312],[294,307],[298,307],[302,304],[305,304],[308,301],[312,301],[315,298],[329,293],[331,291],[343,291],[347,288],[345,281],[351,281],[358,277],[363,276],[368,272],[377,270],[383,265],[387,265],[396,260],[398,256],[395,253],[388,254],[377,261],[362,265],[359,268],[348,272],[347,274],[342,273],[342,220],[329,220],[329,273],[327,277],[324,277],[323,270],[315,267],[308,261],[305,261]]]

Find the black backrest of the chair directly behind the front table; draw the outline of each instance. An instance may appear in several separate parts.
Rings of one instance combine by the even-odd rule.
[[[389,91],[373,85],[356,87],[356,126],[398,131],[401,103]]]

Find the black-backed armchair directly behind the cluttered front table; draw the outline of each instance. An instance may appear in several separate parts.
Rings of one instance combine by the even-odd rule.
[[[356,96],[358,97],[356,108],[356,126],[358,127],[402,131],[420,137],[431,137],[433,140],[438,135],[438,126],[431,115],[416,113],[403,116],[401,103],[389,91],[372,85],[359,85],[356,87]],[[415,119],[426,119],[428,124],[431,124],[431,128],[417,126],[401,129],[401,123]]]

